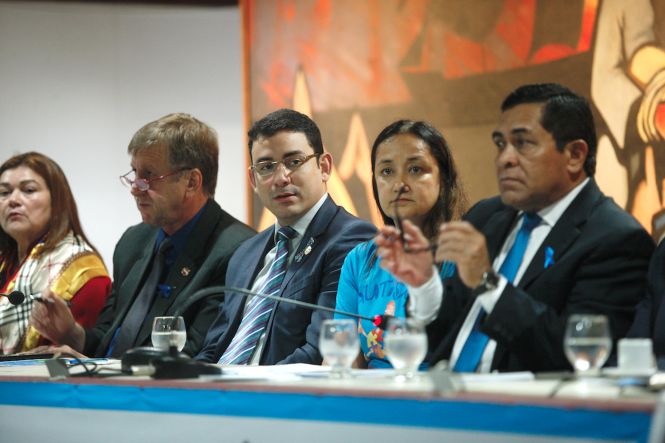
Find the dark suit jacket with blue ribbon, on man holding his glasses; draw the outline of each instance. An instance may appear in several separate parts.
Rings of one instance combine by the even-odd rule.
[[[466,218],[486,238],[493,261],[515,223],[517,211],[498,197],[481,201]],[[563,213],[517,286],[508,284],[481,330],[496,340],[492,369],[570,369],[563,351],[571,314],[605,314],[613,339],[624,337],[644,280],[653,241],[642,226],[591,180]],[[554,263],[545,268],[546,250]],[[450,328],[433,361],[450,357],[473,297],[456,274],[444,281],[436,322]]]

